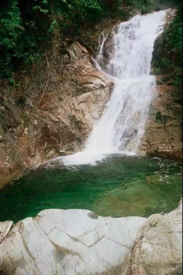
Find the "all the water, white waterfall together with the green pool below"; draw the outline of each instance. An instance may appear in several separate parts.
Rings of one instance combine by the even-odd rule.
[[[38,165],[0,189],[0,221],[19,221],[48,208],[147,217],[177,207],[182,165],[134,156],[155,89],[150,62],[164,16],[165,11],[135,16],[115,27],[107,66],[103,32],[97,64],[115,79],[115,88],[85,149]]]

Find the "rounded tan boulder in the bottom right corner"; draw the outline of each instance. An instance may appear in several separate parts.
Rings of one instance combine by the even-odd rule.
[[[182,274],[182,204],[150,216],[139,230],[125,275]]]

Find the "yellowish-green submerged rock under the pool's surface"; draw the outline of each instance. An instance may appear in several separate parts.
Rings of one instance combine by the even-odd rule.
[[[140,180],[134,180],[128,187],[121,186],[101,193],[94,201],[93,209],[100,209],[100,215],[114,213],[115,217],[121,217],[138,212],[139,216],[147,217],[152,206],[156,207],[160,200],[163,200],[162,197],[149,186],[142,184]]]

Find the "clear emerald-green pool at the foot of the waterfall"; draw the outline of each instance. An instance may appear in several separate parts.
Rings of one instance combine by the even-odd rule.
[[[182,196],[182,166],[148,157],[113,156],[95,166],[49,162],[0,189],[0,221],[19,221],[48,208],[147,217],[169,212]]]

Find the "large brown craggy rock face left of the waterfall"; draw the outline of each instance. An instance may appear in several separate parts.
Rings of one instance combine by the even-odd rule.
[[[111,79],[95,71],[78,42],[68,45],[58,63],[39,109],[36,92],[24,102],[27,112],[17,107],[20,98],[0,97],[0,185],[60,151],[79,150],[110,98]]]

